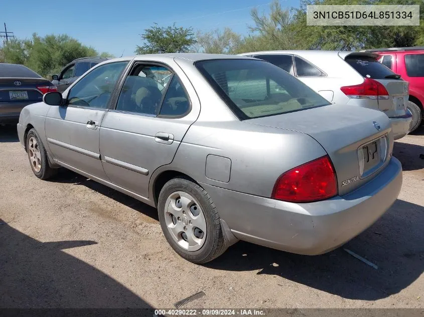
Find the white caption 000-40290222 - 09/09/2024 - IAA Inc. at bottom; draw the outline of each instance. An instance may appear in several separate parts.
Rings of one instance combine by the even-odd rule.
[[[222,316],[222,315],[265,315],[260,309],[156,309],[154,316],[160,315],[184,315],[184,316]]]

